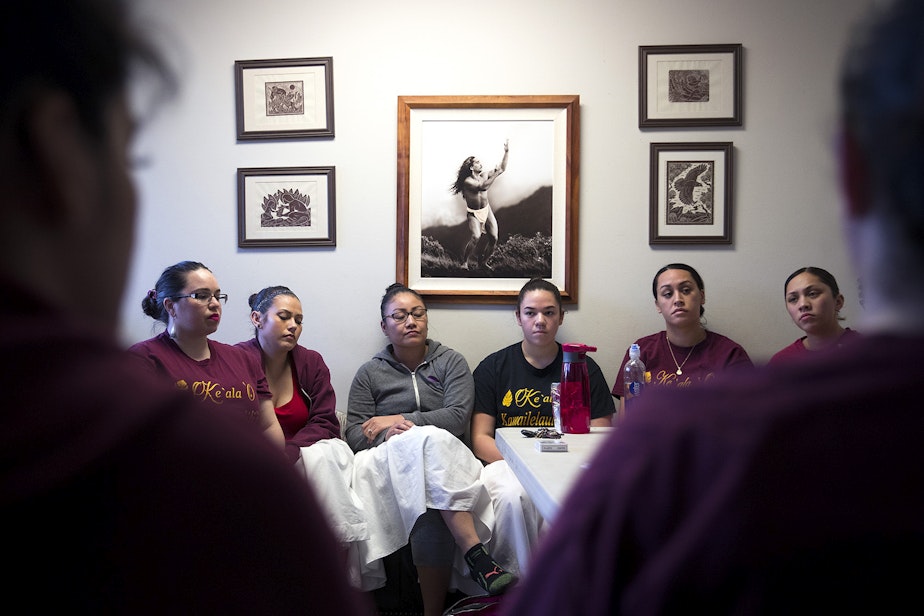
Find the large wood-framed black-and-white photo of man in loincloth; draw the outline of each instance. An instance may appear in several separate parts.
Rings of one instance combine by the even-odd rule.
[[[396,279],[510,303],[534,277],[577,301],[580,97],[399,96]]]

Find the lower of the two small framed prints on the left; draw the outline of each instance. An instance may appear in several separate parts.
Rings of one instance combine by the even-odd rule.
[[[336,246],[334,167],[237,170],[241,248]]]

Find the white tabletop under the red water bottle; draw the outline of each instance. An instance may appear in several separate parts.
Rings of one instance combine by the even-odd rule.
[[[568,451],[554,452],[538,451],[536,439],[523,436],[520,430],[498,428],[494,433],[497,448],[536,509],[551,522],[587,461],[613,429],[594,426],[588,434],[564,434]]]

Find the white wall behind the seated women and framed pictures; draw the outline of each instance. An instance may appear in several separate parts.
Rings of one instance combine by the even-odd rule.
[[[140,301],[167,265],[208,265],[230,295],[215,339],[251,335],[247,297],[301,296],[302,343],[330,365],[339,406],[384,343],[379,300],[395,280],[399,95],[579,94],[579,302],[560,341],[595,344],[612,384],[622,354],[662,329],[651,278],[683,261],[705,278],[710,329],[756,361],[799,331],[782,301],[802,265],[830,270],[857,321],[832,152],[836,71],[871,0],[144,0],[182,64],[182,90],[142,132],[141,212],[123,305],[126,343],[156,329]],[[742,43],[744,126],[641,131],[638,46]],[[235,60],[333,56],[336,138],[237,143]],[[653,141],[733,141],[734,244],[648,245]],[[513,156],[514,154],[512,154]],[[337,246],[239,249],[239,167],[334,165]],[[430,334],[475,365],[519,339],[511,307],[431,303]]]

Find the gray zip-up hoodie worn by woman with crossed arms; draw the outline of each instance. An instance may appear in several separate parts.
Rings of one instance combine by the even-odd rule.
[[[344,438],[353,451],[384,442],[386,430],[369,443],[362,423],[376,415],[401,414],[418,426],[438,426],[460,439],[472,416],[475,384],[461,353],[427,339],[427,355],[412,372],[392,355],[392,346],[359,367],[347,406]]]

